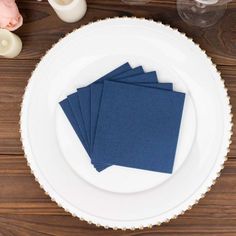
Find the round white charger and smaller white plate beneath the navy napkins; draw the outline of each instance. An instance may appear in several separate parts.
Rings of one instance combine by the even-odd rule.
[[[96,172],[58,104],[127,61],[186,93],[172,175]],[[134,229],[167,222],[204,196],[226,159],[231,118],[220,74],[198,45],[161,23],[114,18],[72,32],[42,58],[25,91],[21,136],[37,181],[58,205],[96,225]]]

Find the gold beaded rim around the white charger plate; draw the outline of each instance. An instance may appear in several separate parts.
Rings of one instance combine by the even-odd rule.
[[[22,143],[22,149],[23,149],[23,151],[24,151],[25,158],[26,158],[26,160],[27,160],[27,165],[30,167],[31,173],[34,175],[35,181],[37,181],[37,182],[39,183],[40,187],[44,190],[45,194],[47,194],[47,195],[51,198],[52,201],[56,202],[59,207],[62,207],[66,212],[70,213],[73,217],[78,217],[81,221],[86,221],[88,224],[94,224],[94,225],[96,225],[97,227],[104,227],[105,229],[111,228],[111,229],[113,229],[113,230],[118,230],[118,229],[121,229],[121,230],[135,230],[135,229],[140,229],[140,230],[142,230],[142,229],[144,229],[144,228],[152,228],[153,226],[160,226],[161,224],[167,223],[167,222],[169,222],[169,221],[172,220],[172,219],[176,219],[179,215],[182,215],[182,214],[184,214],[187,210],[190,210],[195,204],[197,204],[197,203],[199,202],[200,199],[202,199],[202,198],[205,197],[205,195],[206,195],[206,193],[207,193],[208,191],[211,190],[211,187],[215,184],[216,179],[220,176],[221,170],[224,168],[224,163],[225,163],[225,161],[227,160],[227,154],[228,154],[228,152],[230,151],[230,148],[229,148],[229,147],[230,147],[230,144],[232,143],[231,137],[232,137],[232,134],[233,134],[233,133],[232,133],[232,129],[233,129],[233,123],[232,123],[233,114],[232,114],[232,112],[231,112],[232,106],[230,105],[230,97],[228,96],[227,88],[225,87],[224,80],[221,78],[221,74],[220,74],[220,72],[217,70],[216,65],[212,62],[211,58],[206,54],[206,52],[205,52],[204,50],[202,50],[202,49],[200,48],[200,46],[199,46],[198,44],[194,43],[191,38],[189,38],[189,37],[186,36],[186,34],[184,34],[184,33],[182,33],[182,32],[179,32],[178,29],[174,29],[174,28],[170,27],[170,25],[163,24],[163,23],[161,23],[161,22],[155,22],[154,20],[151,20],[151,19],[137,18],[137,17],[114,17],[114,18],[106,18],[106,19],[102,19],[102,20],[97,20],[97,21],[94,21],[94,22],[90,22],[90,23],[88,23],[88,24],[85,24],[85,25],[81,26],[81,27],[78,28],[78,29],[74,29],[72,32],[70,32],[70,33],[66,34],[64,37],[60,38],[57,43],[59,43],[60,40],[62,40],[63,38],[65,38],[67,35],[72,34],[74,31],[79,30],[79,29],[81,29],[81,28],[83,28],[83,27],[86,27],[86,26],[88,26],[88,25],[95,24],[95,23],[98,23],[98,22],[101,22],[101,21],[110,21],[110,20],[117,20],[117,19],[129,19],[129,20],[140,20],[140,21],[152,22],[152,23],[155,23],[155,24],[161,24],[161,25],[163,25],[163,26],[165,26],[165,27],[168,27],[168,28],[171,29],[171,30],[176,31],[178,34],[182,35],[185,39],[190,40],[190,41],[192,42],[192,44],[194,44],[195,46],[197,46],[197,47],[200,49],[200,51],[204,54],[204,56],[209,60],[209,62],[211,63],[212,67],[214,68],[215,73],[217,74],[217,76],[218,76],[218,78],[219,78],[220,85],[221,85],[222,89],[225,91],[225,100],[226,100],[227,105],[228,105],[228,114],[227,114],[228,117],[227,117],[227,118],[228,118],[228,122],[229,122],[229,127],[230,127],[230,128],[229,128],[228,133],[227,133],[227,144],[226,144],[225,150],[224,150],[224,158],[222,158],[221,163],[220,163],[220,164],[218,165],[218,167],[217,167],[217,171],[215,171],[214,176],[211,178],[210,183],[205,187],[205,190],[201,192],[200,196],[199,196],[197,199],[195,199],[194,202],[192,202],[190,205],[188,205],[187,207],[185,207],[185,209],[182,209],[181,212],[179,212],[178,214],[173,215],[172,217],[167,218],[167,219],[165,219],[165,220],[162,221],[162,222],[155,222],[155,223],[150,224],[150,225],[139,226],[139,227],[132,227],[132,228],[130,228],[130,227],[111,227],[111,226],[108,226],[108,225],[101,225],[100,223],[95,222],[95,221],[91,221],[90,219],[81,218],[81,217],[77,216],[75,213],[70,212],[68,209],[66,209],[66,208],[61,204],[61,202],[60,202],[58,199],[56,199],[54,196],[52,196],[52,194],[49,194],[49,192],[45,189],[45,186],[43,186],[43,184],[41,183],[40,179],[38,178],[37,173],[36,173],[36,171],[35,171],[35,168],[34,168],[33,164],[31,163],[31,160],[30,160],[30,158],[29,158],[29,156],[28,156],[29,152],[28,152],[28,150],[27,150],[27,147],[26,147],[26,145],[25,145],[25,140],[24,140],[24,137],[23,137],[23,131],[22,131],[22,130],[23,130],[23,125],[22,125],[22,124],[23,124],[23,119],[22,119],[22,117],[23,117],[23,108],[24,108],[25,96],[26,96],[27,91],[28,91],[28,89],[29,89],[29,87],[30,87],[31,78],[33,77],[34,71],[37,69],[38,64],[36,64],[34,71],[32,71],[31,77],[30,77],[29,80],[28,80],[28,84],[27,84],[27,86],[25,87],[25,92],[24,92],[24,95],[23,95],[23,98],[22,98],[21,111],[20,111],[20,121],[19,121],[20,133],[21,133],[21,143]],[[55,46],[57,43],[53,44],[52,47],[51,47],[51,49],[54,48],[54,46]],[[44,56],[41,57],[41,60],[40,60],[40,61],[43,60],[43,58],[48,54],[48,52],[49,52],[51,49],[49,49],[49,50],[44,54]],[[39,63],[40,63],[40,62],[39,62]]]

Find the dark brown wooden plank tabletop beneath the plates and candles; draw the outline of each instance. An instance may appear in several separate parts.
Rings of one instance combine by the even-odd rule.
[[[24,25],[17,34],[24,48],[16,59],[0,59],[0,235],[236,235],[236,136],[220,179],[211,192],[178,219],[142,231],[96,228],[73,218],[46,196],[27,167],[21,149],[19,111],[24,87],[35,65],[59,38],[88,22],[113,16],[162,21],[192,37],[205,49],[226,81],[236,114],[236,1],[208,29],[182,22],[174,0],[128,6],[120,0],[88,0],[88,12],[75,24],[60,21],[46,0],[18,0]],[[236,119],[236,116],[235,116]],[[236,121],[234,119],[234,121]]]

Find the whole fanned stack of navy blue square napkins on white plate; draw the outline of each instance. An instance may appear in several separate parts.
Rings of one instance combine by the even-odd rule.
[[[60,105],[97,171],[118,165],[172,173],[184,100],[156,72],[125,63]]]

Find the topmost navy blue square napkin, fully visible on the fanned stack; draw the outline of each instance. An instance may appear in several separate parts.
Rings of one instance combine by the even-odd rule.
[[[104,81],[92,159],[172,173],[185,94]]]

